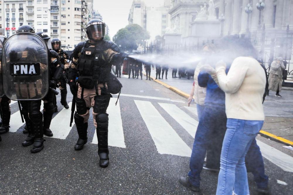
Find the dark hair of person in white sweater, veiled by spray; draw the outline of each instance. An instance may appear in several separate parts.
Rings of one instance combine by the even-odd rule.
[[[224,36],[219,41],[220,51],[227,51],[229,56],[237,58],[240,56],[251,56],[255,59],[258,58],[257,52],[251,41],[245,37],[235,35]]]

